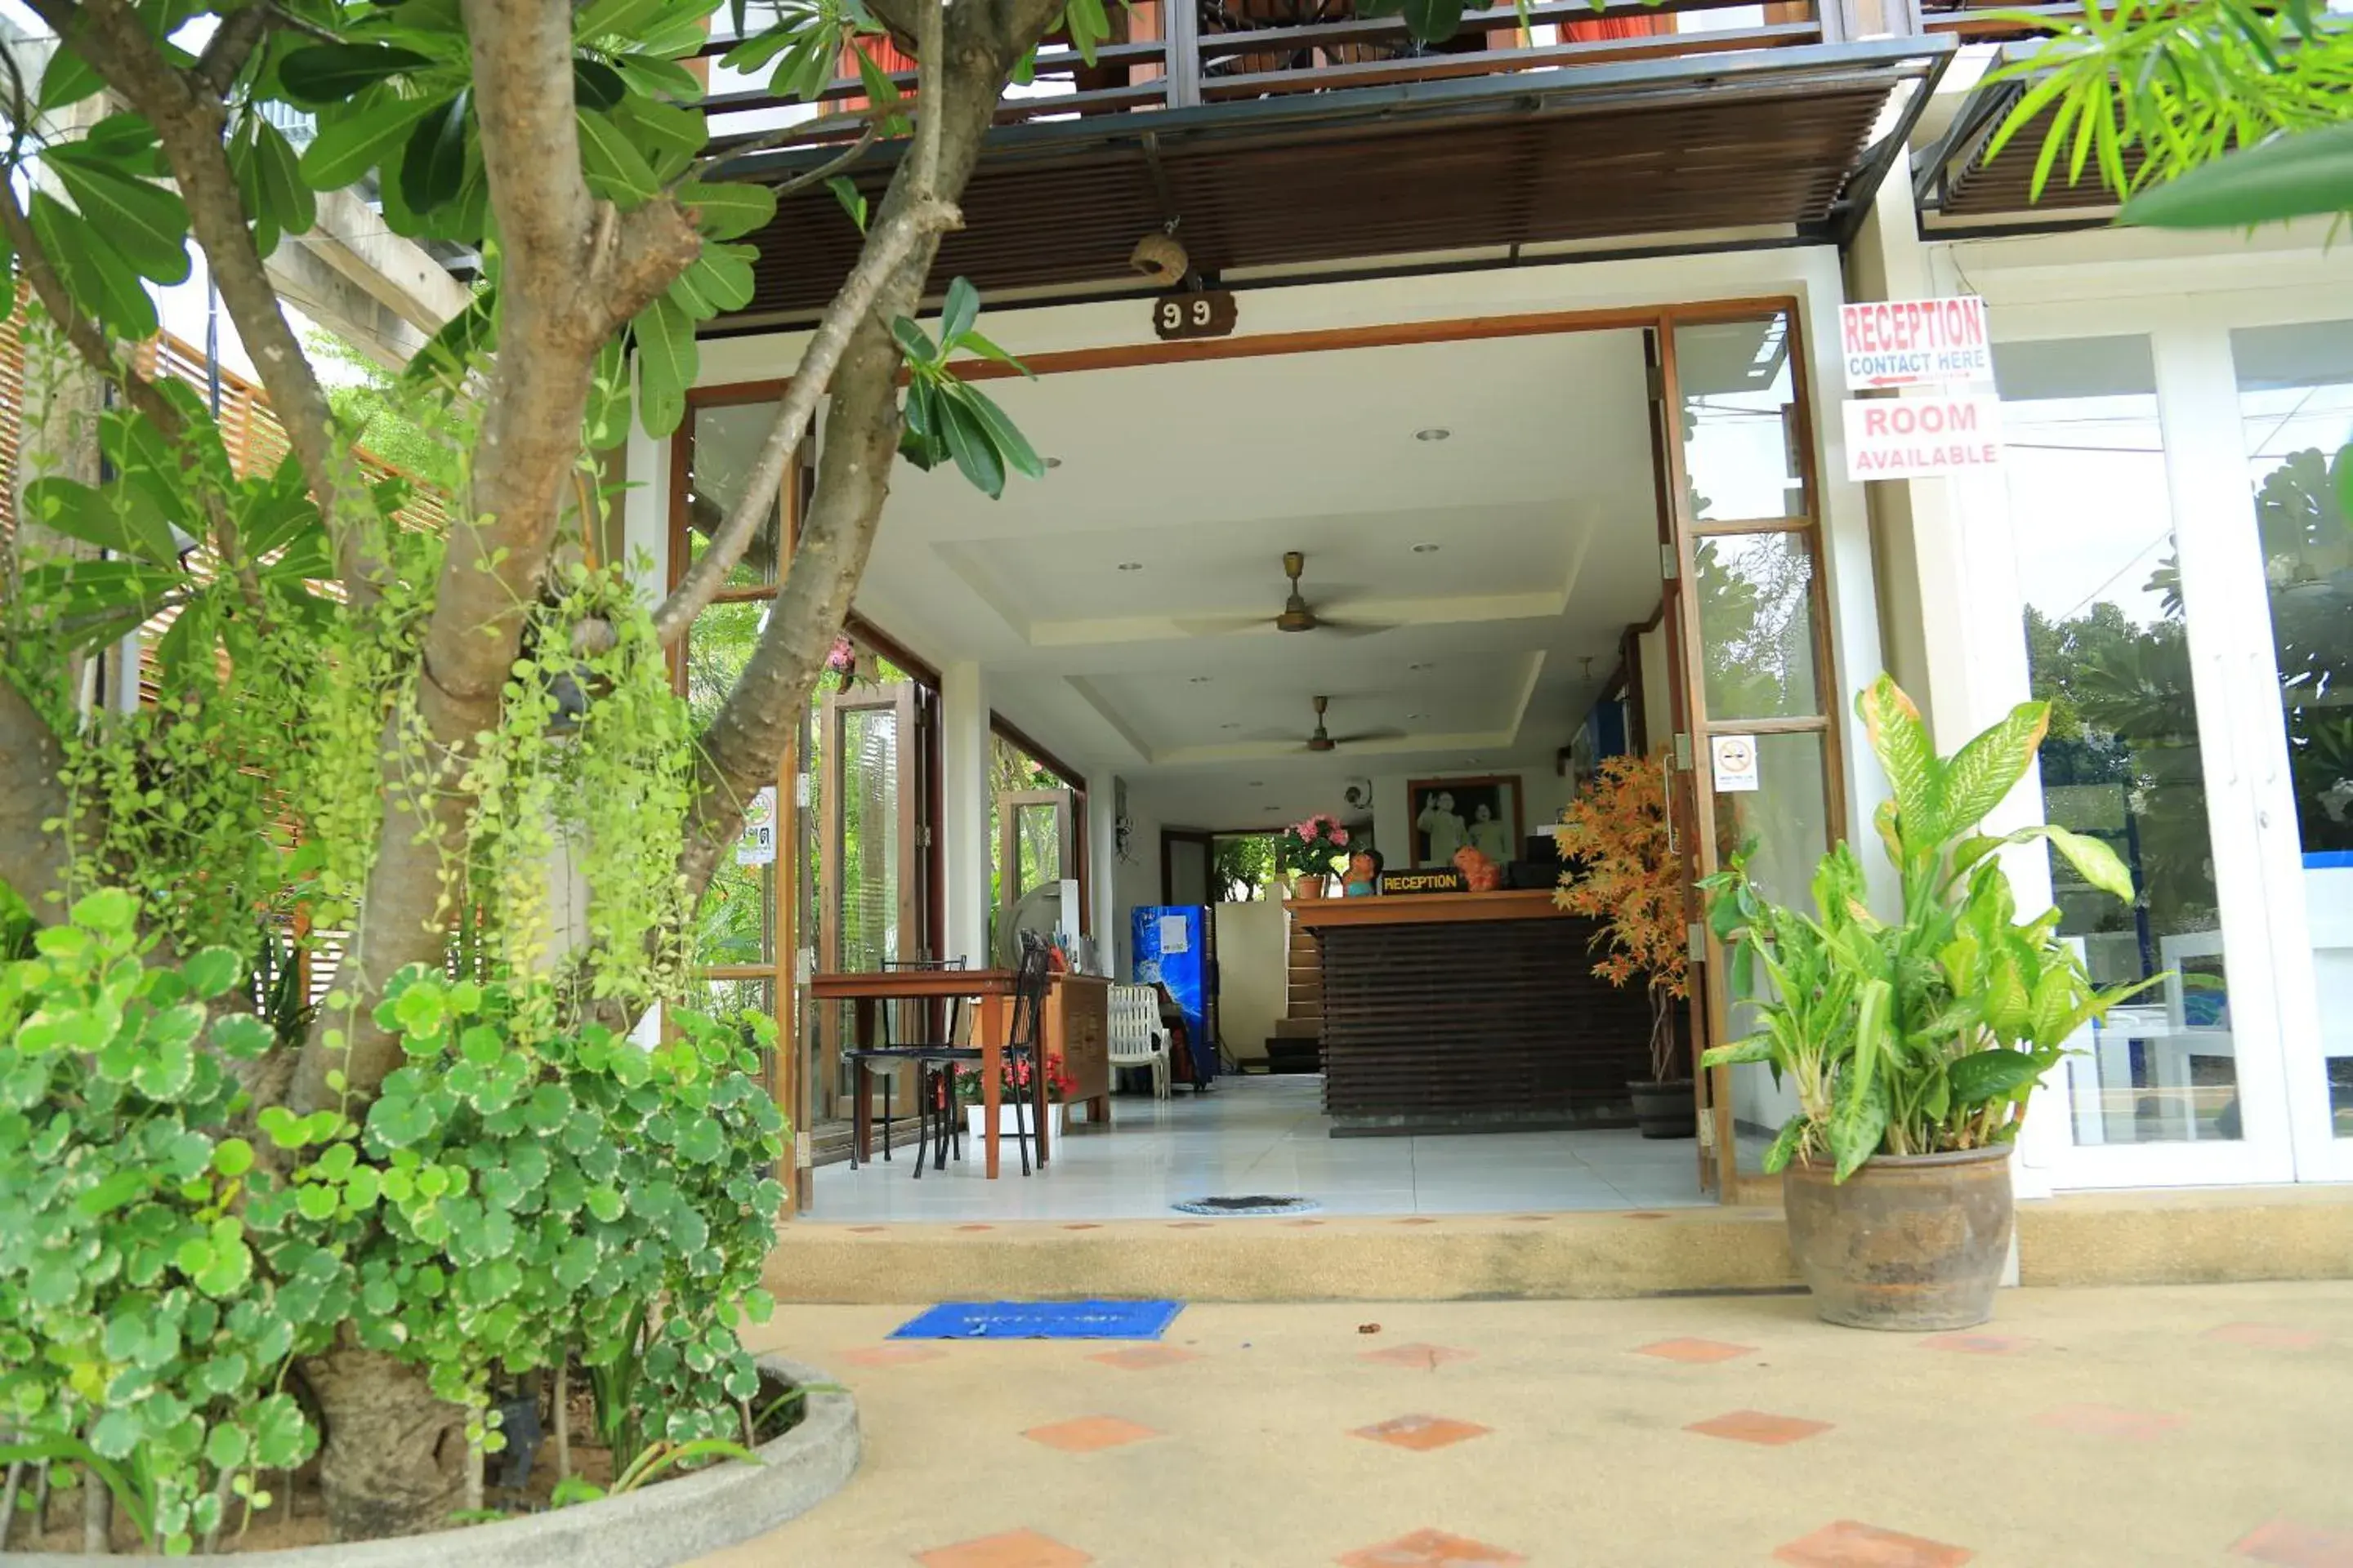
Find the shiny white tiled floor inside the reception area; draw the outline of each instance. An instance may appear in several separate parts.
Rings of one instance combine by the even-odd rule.
[[[1515,1213],[1711,1201],[1689,1140],[1628,1131],[1332,1138],[1322,1079],[1226,1077],[1207,1095],[1113,1098],[1108,1128],[1073,1117],[1061,1154],[981,1180],[979,1147],[913,1180],[889,1164],[821,1166],[812,1220],[1155,1220],[1200,1197],[1308,1197],[1325,1213]]]

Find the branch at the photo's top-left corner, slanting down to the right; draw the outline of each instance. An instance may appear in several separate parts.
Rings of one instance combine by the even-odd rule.
[[[261,252],[228,167],[221,94],[195,73],[179,71],[148,35],[146,21],[122,0],[31,0],[59,38],[75,49],[162,143],[172,181],[188,207],[188,228],[205,249],[221,306],[261,371],[271,411],[318,496],[327,534],[336,541],[336,569],[353,604],[376,597],[384,574],[381,517],[351,444],[336,437],[334,411],[320,390],[308,355],[294,341],[278,292],[261,270]],[[235,21],[235,19],[231,19]],[[228,26],[228,24],[224,24]]]

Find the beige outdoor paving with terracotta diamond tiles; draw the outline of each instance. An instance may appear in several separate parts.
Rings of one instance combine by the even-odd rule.
[[[2353,1284],[2009,1291],[1944,1338],[1784,1295],[906,1316],[776,1314],[866,1462],[706,1568],[2353,1566]]]

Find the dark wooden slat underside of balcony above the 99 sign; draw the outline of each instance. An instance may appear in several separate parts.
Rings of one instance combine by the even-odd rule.
[[[1155,150],[1144,132],[1162,118],[1148,113],[1118,115],[1115,134],[1104,120],[1052,127],[1073,132],[1068,148],[1031,127],[984,155],[934,289],[955,275],[984,294],[1134,282],[1127,256],[1169,205],[1202,270],[1751,226],[1821,237],[1894,82],[1894,68],[1854,68],[1607,103],[1497,96],[1344,125],[1249,127],[1257,106],[1235,103],[1219,113],[1238,129],[1193,118]],[[889,167],[856,174],[871,197],[887,179]],[[816,188],[791,197],[758,242],[758,294],[739,327],[824,308],[859,233]]]

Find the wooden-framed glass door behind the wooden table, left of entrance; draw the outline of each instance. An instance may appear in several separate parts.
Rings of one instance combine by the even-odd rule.
[[[816,966],[875,971],[929,957],[922,926],[927,856],[918,844],[922,797],[915,757],[915,686],[852,686],[819,710]],[[847,1004],[821,1009],[819,1081],[847,1114],[842,1074]]]

